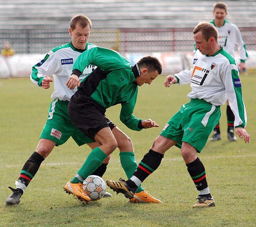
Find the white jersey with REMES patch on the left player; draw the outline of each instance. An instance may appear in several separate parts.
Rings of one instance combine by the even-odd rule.
[[[85,50],[96,47],[96,45],[87,43]],[[53,50],[46,54],[44,59],[32,68],[30,80],[37,85],[42,86],[41,82],[46,76],[53,74],[54,91],[51,95],[52,99],[58,98],[59,100],[70,100],[71,96],[77,91],[77,87],[73,90],[67,88],[66,83],[72,74],[72,67],[76,58],[82,53],[73,47],[71,41],[65,45],[55,47]],[[89,65],[85,68],[79,80],[84,79],[95,68],[94,65]]]

